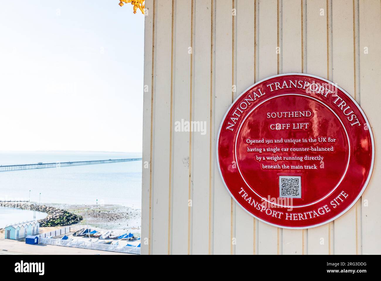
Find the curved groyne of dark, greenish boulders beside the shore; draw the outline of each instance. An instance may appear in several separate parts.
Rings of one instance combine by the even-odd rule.
[[[23,204],[23,203],[10,203],[0,202],[0,207],[20,208],[23,210],[36,210],[38,212],[47,213],[48,216],[42,220],[38,220],[40,227],[43,226],[66,226],[78,223],[83,220],[83,217],[70,213],[66,210],[48,207],[45,205]]]

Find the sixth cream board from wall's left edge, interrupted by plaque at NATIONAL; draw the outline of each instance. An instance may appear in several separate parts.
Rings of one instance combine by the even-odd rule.
[[[254,84],[254,2],[237,0],[237,95]],[[235,208],[235,254],[254,254],[255,219],[242,207]]]

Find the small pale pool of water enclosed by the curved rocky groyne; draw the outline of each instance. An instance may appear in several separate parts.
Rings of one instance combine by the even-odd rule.
[[[22,221],[40,220],[46,217],[46,213],[36,212],[36,217],[33,216],[33,211],[21,210],[18,208],[0,207],[0,228],[4,228],[7,224],[15,224]]]

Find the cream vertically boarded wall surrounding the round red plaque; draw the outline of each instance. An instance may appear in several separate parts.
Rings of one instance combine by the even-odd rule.
[[[381,254],[381,2],[146,0],[146,9],[142,254]],[[237,95],[290,72],[351,94],[376,146],[361,199],[337,220],[304,230],[267,225],[237,206],[215,153]],[[182,119],[205,121],[206,133],[175,131]]]

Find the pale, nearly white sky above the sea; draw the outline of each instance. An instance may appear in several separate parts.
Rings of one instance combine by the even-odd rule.
[[[1,2],[0,150],[142,151],[144,15],[118,3]]]

